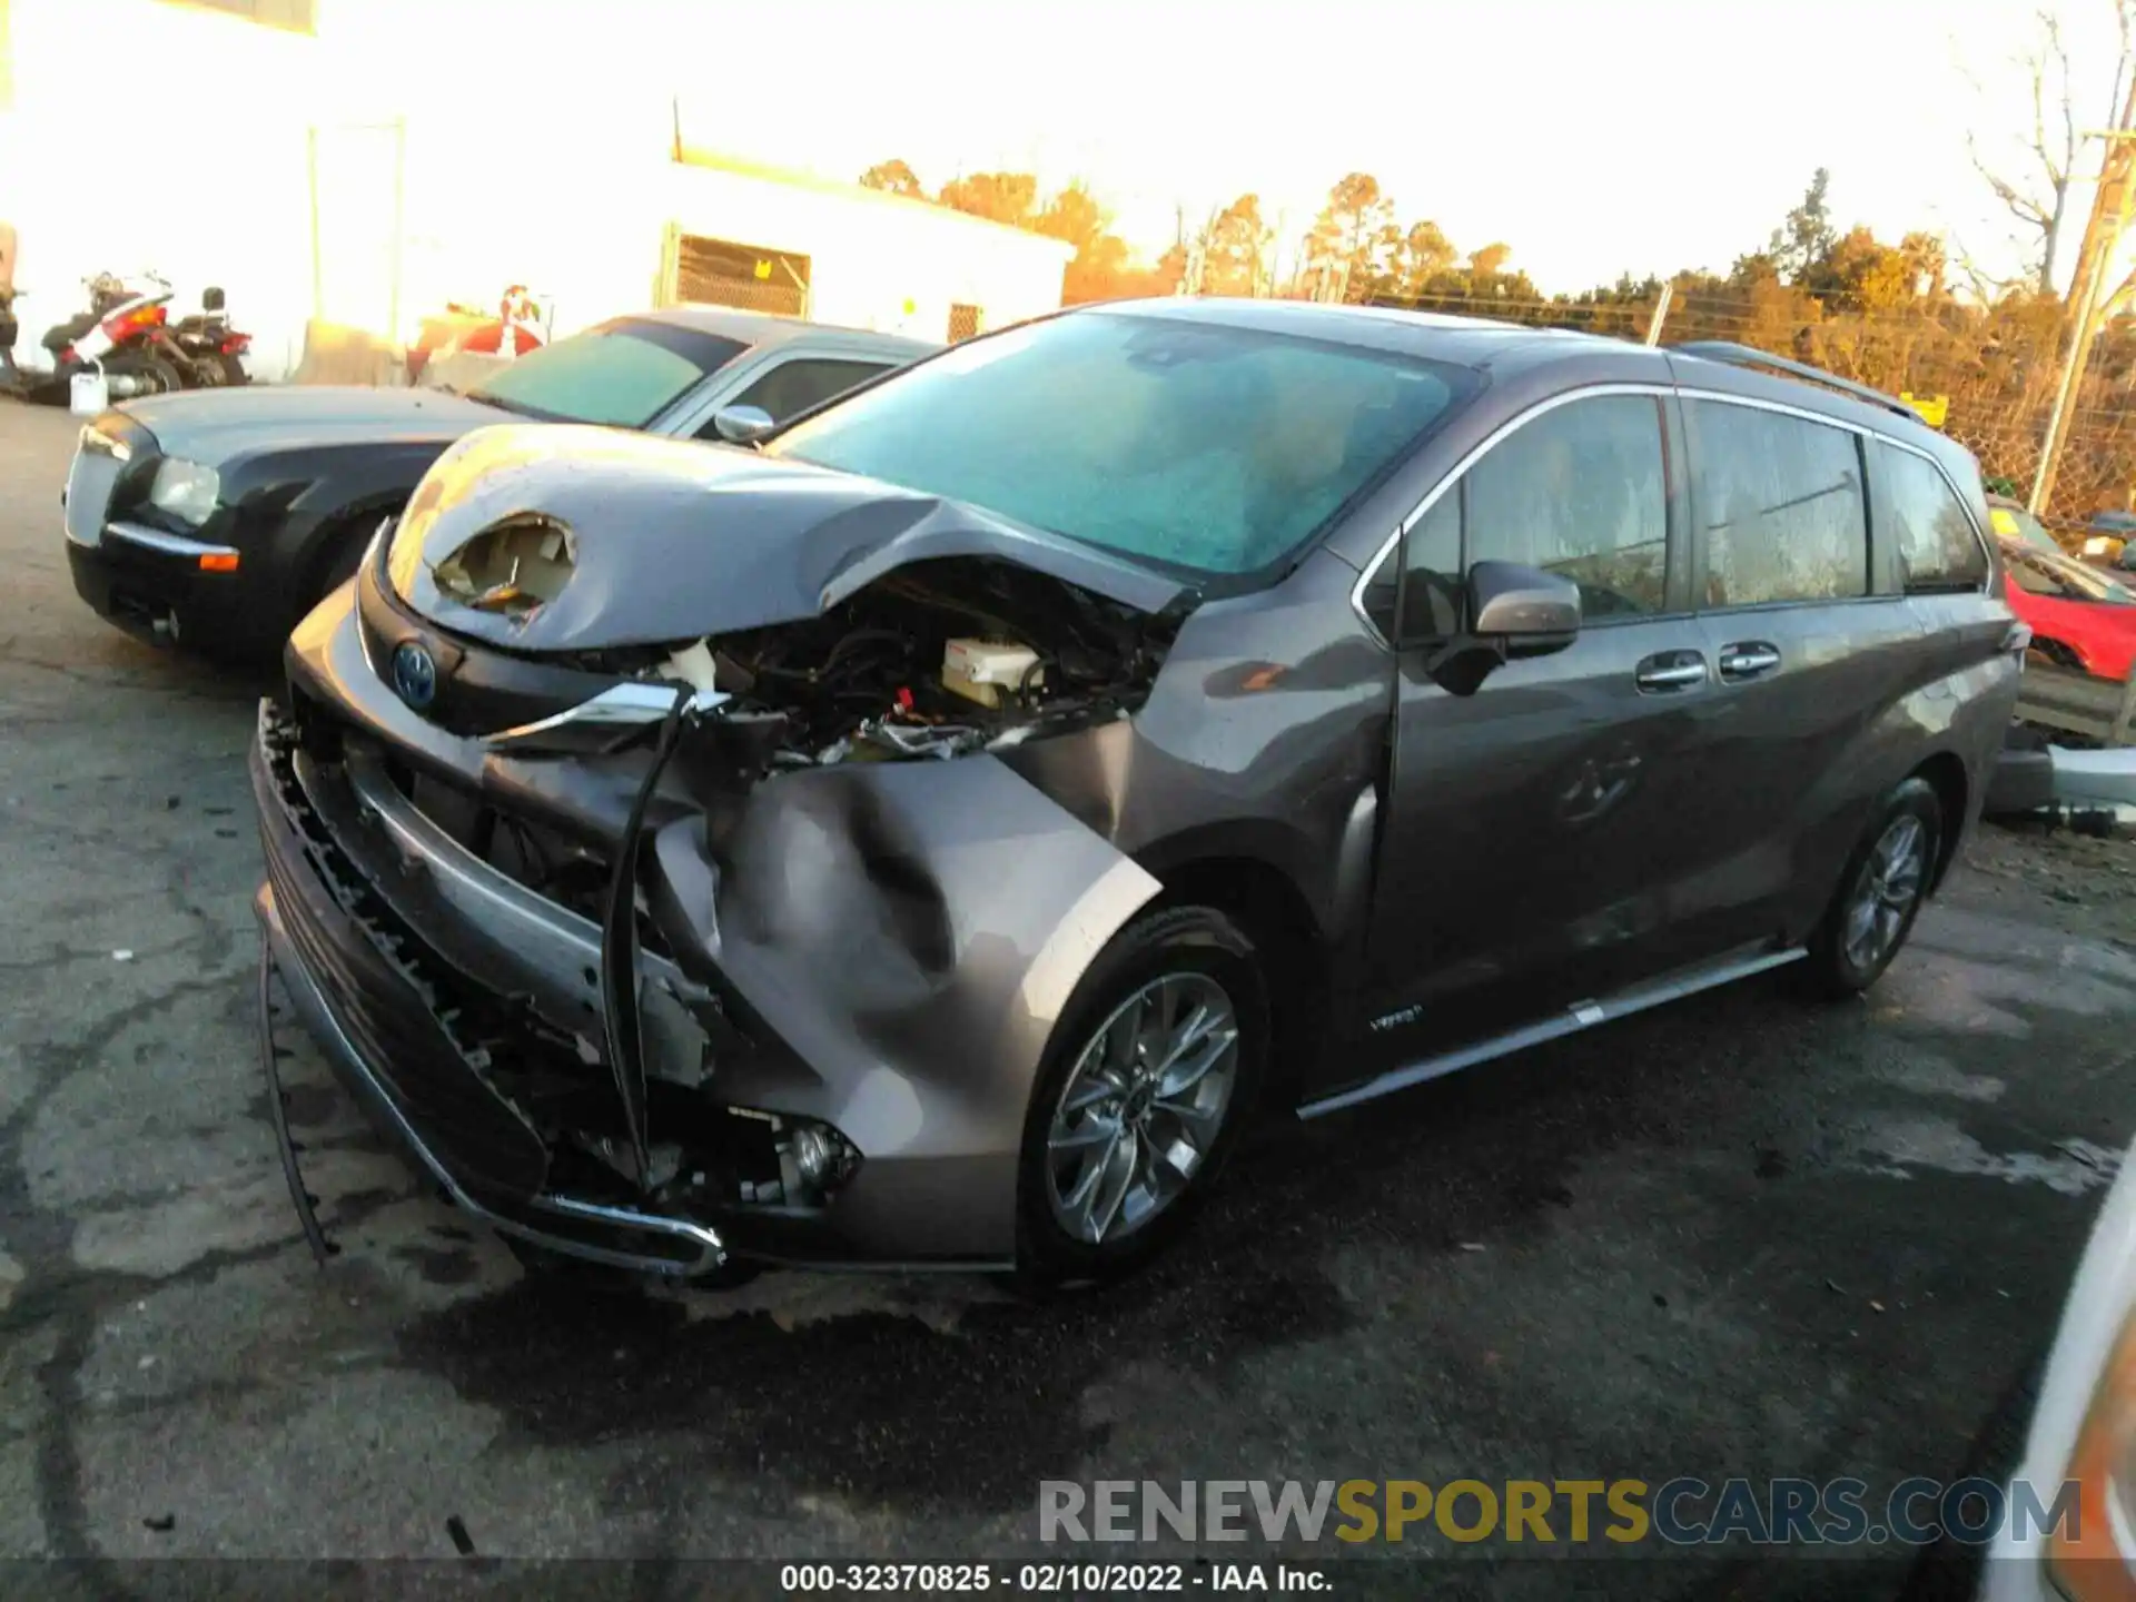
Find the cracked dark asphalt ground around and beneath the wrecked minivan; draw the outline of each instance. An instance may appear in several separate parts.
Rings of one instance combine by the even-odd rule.
[[[1183,1250],[1045,1307],[530,1277],[293,1036],[320,1271],[254,1036],[263,686],[75,598],[73,434],[0,406],[0,1559],[36,1564],[9,1593],[634,1557],[630,1596],[703,1596],[690,1559],[1030,1551],[1042,1478],[1946,1476],[2136,1132],[2136,846],[1991,829],[1867,1002],[1754,980],[1271,1128]],[[1570,1593],[1423,1551],[1457,1559],[1433,1596]],[[1613,1559],[1583,1593],[1835,1593],[1807,1559]]]

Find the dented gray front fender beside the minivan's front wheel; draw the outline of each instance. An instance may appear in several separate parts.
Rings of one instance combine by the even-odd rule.
[[[857,1243],[987,1260],[1015,1250],[1053,1027],[1160,889],[991,756],[782,775],[718,839],[669,824],[645,865],[675,965],[788,1047],[722,1059],[722,1100],[861,1149],[835,1203]]]

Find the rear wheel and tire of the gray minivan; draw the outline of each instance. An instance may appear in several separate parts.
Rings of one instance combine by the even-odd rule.
[[[1905,780],[1878,805],[1809,938],[1811,991],[1839,1000],[1882,978],[1929,899],[1942,848],[1944,803],[1935,786]]]

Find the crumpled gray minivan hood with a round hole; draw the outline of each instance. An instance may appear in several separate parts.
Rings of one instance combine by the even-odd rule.
[[[438,566],[498,523],[568,543],[568,575],[511,615],[440,587]],[[1136,611],[1181,585],[961,502],[720,444],[570,425],[470,434],[393,534],[395,594],[440,626],[519,651],[662,645],[814,617],[893,568],[998,557]]]

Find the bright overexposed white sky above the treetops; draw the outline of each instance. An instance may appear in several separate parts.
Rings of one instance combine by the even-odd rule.
[[[677,0],[679,13],[709,9]],[[2063,0],[2085,126],[2108,117],[2110,0]],[[1621,269],[1726,269],[1811,169],[1841,226],[1954,233],[2008,263],[2010,222],[1965,132],[2010,158],[2029,128],[2025,0],[786,0],[778,43],[707,19],[694,126],[748,154],[857,175],[906,158],[1083,175],[1147,250],[1258,190],[1303,226],[1350,169],[1463,250],[1506,239],[1544,288]],[[728,13],[731,15],[731,13]],[[745,66],[743,66],[745,64]],[[2089,68],[2089,70],[2087,70]],[[1980,88],[1969,81],[1980,79]],[[2095,160],[2098,145],[2093,145]],[[2078,211],[2080,216],[2080,211]]]

